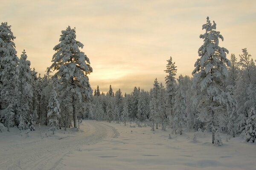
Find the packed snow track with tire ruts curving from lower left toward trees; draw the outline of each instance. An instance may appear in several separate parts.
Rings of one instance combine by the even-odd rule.
[[[6,150],[6,159],[0,160],[3,170],[55,170],[62,158],[85,144],[95,144],[105,138],[117,138],[118,131],[102,122],[83,121],[80,131],[60,140],[38,140],[15,144]],[[72,135],[74,135],[72,134]],[[10,156],[8,156],[10,155]]]

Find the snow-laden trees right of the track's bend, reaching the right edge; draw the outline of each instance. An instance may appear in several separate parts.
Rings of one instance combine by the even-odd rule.
[[[151,130],[165,130],[169,125],[174,133],[187,130],[212,132],[212,143],[221,145],[219,132],[230,137],[241,135],[247,142],[256,140],[256,66],[243,48],[237,58],[226,58],[226,48],[218,46],[223,40],[215,31],[216,23],[203,25],[200,35],[204,44],[199,48],[192,77],[180,75],[172,57],[167,60],[165,87],[155,79],[150,91],[134,88],[131,94],[116,93],[110,86],[107,94],[94,91],[90,119],[108,122],[150,122]],[[216,137],[215,137],[216,136]]]

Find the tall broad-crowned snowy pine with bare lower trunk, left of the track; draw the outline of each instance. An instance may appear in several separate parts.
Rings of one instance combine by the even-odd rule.
[[[50,69],[56,71],[54,78],[67,86],[62,89],[70,88],[73,122],[74,127],[77,127],[76,102],[82,102],[82,94],[87,100],[90,100],[92,89],[87,74],[90,74],[93,69],[90,66],[89,58],[79,49],[83,48],[84,45],[76,40],[75,28],[71,29],[68,26],[61,33],[60,43],[53,48],[56,53],[52,57],[53,63],[48,71]]]

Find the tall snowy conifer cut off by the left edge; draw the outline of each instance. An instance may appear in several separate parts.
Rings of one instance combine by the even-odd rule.
[[[0,25],[0,122],[9,127],[14,125],[17,115],[17,102],[19,96],[17,85],[19,83],[19,59],[15,50],[15,37],[11,26],[7,23]],[[14,114],[15,115],[14,115]],[[6,122],[7,121],[7,122]]]

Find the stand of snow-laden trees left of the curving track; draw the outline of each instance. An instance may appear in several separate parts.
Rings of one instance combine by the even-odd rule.
[[[53,50],[47,74],[37,76],[30,68],[25,50],[20,58],[15,50],[11,26],[0,26],[0,131],[17,126],[35,130],[35,124],[78,127],[78,115],[88,112],[92,96],[87,74],[92,72],[89,58],[80,51],[76,31],[61,31],[60,43]],[[55,71],[50,76],[51,70]]]

